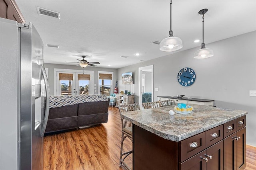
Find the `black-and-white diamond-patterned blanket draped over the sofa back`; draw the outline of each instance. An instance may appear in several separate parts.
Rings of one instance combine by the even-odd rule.
[[[89,94],[80,96],[50,96],[50,108],[69,106],[84,102],[108,101],[106,95]]]

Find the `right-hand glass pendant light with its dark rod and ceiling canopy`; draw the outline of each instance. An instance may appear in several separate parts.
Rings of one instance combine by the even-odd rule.
[[[204,46],[204,14],[207,11],[208,9],[202,9],[198,12],[198,14],[203,15],[202,17],[203,18],[203,21],[202,21],[203,22],[203,43],[202,43],[201,49],[194,53],[194,59],[206,59],[214,55],[212,49],[205,48]]]

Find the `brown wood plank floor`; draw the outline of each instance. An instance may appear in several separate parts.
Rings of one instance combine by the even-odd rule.
[[[120,114],[116,107],[108,111],[108,123],[44,137],[44,170],[122,170]],[[129,140],[124,149],[132,149]],[[132,154],[126,162],[132,167]],[[255,169],[256,148],[246,145],[246,170]]]

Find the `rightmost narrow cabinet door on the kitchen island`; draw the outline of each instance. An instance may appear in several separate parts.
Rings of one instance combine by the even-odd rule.
[[[242,170],[246,167],[246,129],[245,127],[236,132],[236,170]],[[239,139],[240,137],[240,139]]]

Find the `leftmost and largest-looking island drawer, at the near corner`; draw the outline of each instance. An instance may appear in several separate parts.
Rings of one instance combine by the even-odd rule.
[[[199,133],[198,135],[192,136],[188,139],[180,141],[179,151],[180,151],[180,162],[190,158],[191,156],[201,152],[206,149],[206,132]]]

